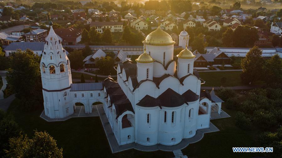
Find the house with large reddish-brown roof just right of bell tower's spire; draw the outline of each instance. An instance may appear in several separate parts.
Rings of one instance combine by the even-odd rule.
[[[54,31],[62,45],[76,45],[81,41],[81,30],[77,28],[56,28]]]

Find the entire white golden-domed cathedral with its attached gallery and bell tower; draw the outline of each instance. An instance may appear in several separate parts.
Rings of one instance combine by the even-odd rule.
[[[45,115],[72,115],[77,102],[91,113],[100,101],[119,145],[175,145],[193,137],[209,127],[211,112],[220,114],[223,101],[214,90],[201,91],[204,81],[193,70],[188,38],[186,31],[180,33],[179,43],[186,47],[174,60],[175,42],[158,27],[143,41],[137,64],[118,63],[117,81],[109,76],[101,83],[73,84],[70,61],[50,22],[40,63]]]

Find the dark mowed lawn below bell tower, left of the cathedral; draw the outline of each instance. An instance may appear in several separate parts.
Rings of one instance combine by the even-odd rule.
[[[172,158],[172,152],[144,152],[130,149],[112,154],[107,137],[99,117],[80,117],[66,121],[47,122],[39,117],[42,109],[34,112],[24,112],[18,108],[21,101],[15,99],[8,112],[11,113],[20,128],[29,137],[34,130],[47,131],[57,140],[57,145],[63,148],[65,158]],[[42,105],[43,107],[43,105]]]

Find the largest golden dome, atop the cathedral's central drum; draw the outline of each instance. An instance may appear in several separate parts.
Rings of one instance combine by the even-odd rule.
[[[175,42],[172,40],[170,35],[163,31],[160,26],[145,38],[144,44],[155,45],[155,46],[167,46],[172,45]]]

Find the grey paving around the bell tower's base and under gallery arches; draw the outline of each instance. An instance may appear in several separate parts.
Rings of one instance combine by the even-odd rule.
[[[103,106],[100,104],[100,106]],[[51,119],[48,116],[45,115],[45,111],[43,110],[40,117],[48,122],[54,122],[54,121],[65,121],[73,117],[94,117],[94,116],[99,116],[98,110],[97,110],[97,105],[92,105],[92,113],[91,114],[86,114],[85,113],[85,107],[84,106],[76,106],[76,110],[72,115],[69,115],[65,118],[60,118],[60,119]]]

